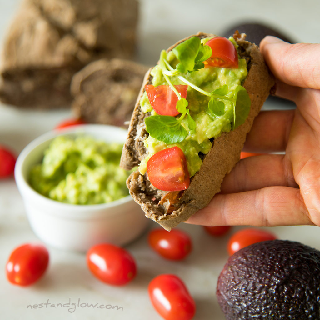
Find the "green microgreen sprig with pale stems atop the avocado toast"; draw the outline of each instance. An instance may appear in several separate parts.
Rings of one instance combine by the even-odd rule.
[[[178,44],[172,51],[179,60],[176,68],[173,68],[168,62],[165,50],[161,51],[159,65],[164,79],[178,97],[176,108],[181,113],[181,116],[154,115],[147,117],[145,123],[150,136],[157,140],[164,141],[166,144],[183,141],[188,135],[188,131],[181,124],[185,116],[187,116],[188,130],[194,130],[196,127],[196,123],[187,108],[188,101],[182,98],[180,93],[176,90],[170,79],[171,76],[176,76],[180,81],[194,90],[211,98],[206,108],[206,112],[210,117],[215,118],[223,115],[225,112],[225,104],[221,100],[229,100],[233,104],[232,129],[234,130],[239,125],[243,124],[249,114],[251,105],[248,92],[243,86],[236,86],[233,97],[228,97],[228,85],[226,84],[212,92],[207,92],[181,75],[186,72],[195,72],[204,68],[203,61],[210,58],[212,54],[210,46],[203,45],[201,40],[194,36]]]

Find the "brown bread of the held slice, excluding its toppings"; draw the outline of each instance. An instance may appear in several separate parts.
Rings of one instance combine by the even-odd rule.
[[[199,32],[195,36],[204,38],[215,35]],[[192,36],[188,38],[190,37]],[[167,51],[172,50],[174,46],[188,38],[180,40]],[[223,178],[240,160],[240,153],[243,149],[246,135],[274,85],[274,78],[263,60],[259,47],[245,41],[244,34],[234,35],[234,38],[239,45],[238,53],[241,57],[246,58],[248,62],[248,75],[242,85],[250,96],[251,109],[245,123],[234,131],[223,132],[219,138],[213,140],[212,148],[204,156],[200,170],[190,179],[190,185],[184,191],[173,194],[157,190],[150,184],[146,176],[142,176],[138,171],[133,172],[127,180],[131,196],[135,202],[140,204],[146,217],[156,221],[168,231],[207,206],[212,197],[220,192]],[[140,98],[144,91],[144,86],[151,83],[150,70],[144,78],[132,114],[128,138],[124,144],[120,165],[125,169],[131,169],[138,165],[147,152],[143,141],[148,137],[148,132],[144,125],[144,118],[148,114],[144,114],[140,109]],[[164,197],[171,199],[165,201]]]

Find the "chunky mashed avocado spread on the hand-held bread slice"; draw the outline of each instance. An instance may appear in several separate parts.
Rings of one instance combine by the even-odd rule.
[[[210,38],[202,39],[201,42],[204,44],[208,40],[210,40]],[[230,37],[229,40],[237,48],[237,44],[233,38]],[[176,68],[180,62],[173,51],[168,52],[165,58],[170,64],[169,70]],[[228,99],[234,97],[239,88],[242,91],[241,93],[245,91],[245,89],[240,86],[246,78],[247,73],[248,71],[245,59],[240,59],[240,57],[238,57],[238,68],[208,67],[200,68],[193,72],[176,72],[176,74],[170,76],[170,81],[174,85],[186,84],[185,81],[181,81],[180,77],[182,76],[188,82],[196,87],[199,87],[205,92],[214,92],[216,90],[217,93],[223,96],[222,98]],[[152,84],[154,86],[168,85],[163,73],[163,68],[161,67],[161,63],[152,69],[151,76],[153,77]],[[246,91],[245,94],[247,95]],[[224,110],[220,113],[213,114],[212,112],[208,111],[208,104],[211,99],[212,97],[209,97],[188,85],[186,98],[188,101],[188,116],[185,116],[181,121],[181,125],[186,129],[188,134],[182,141],[174,143],[161,141],[157,139],[157,135],[153,134],[153,132],[150,130],[151,125],[148,128],[147,124],[149,136],[146,140],[144,140],[144,145],[148,149],[148,155],[141,161],[139,165],[139,171],[141,174],[144,174],[147,171],[148,159],[153,154],[162,149],[171,148],[174,146],[178,146],[184,152],[187,158],[187,166],[190,177],[199,171],[202,165],[200,155],[206,154],[210,151],[210,148],[212,147],[212,139],[219,137],[222,132],[229,132],[233,129],[232,123],[234,122],[235,108],[237,108],[238,105],[238,101],[235,103],[231,100],[216,98],[214,99],[215,101],[223,102]],[[248,113],[250,110],[250,98],[245,96],[244,100],[246,100],[244,104],[246,104],[246,113]],[[239,105],[241,105],[241,103],[239,103]],[[140,100],[140,107],[143,112],[150,112],[151,116],[156,115],[156,112],[153,110],[148,100],[146,92],[144,92]],[[192,124],[192,122],[190,123],[189,116],[191,116],[191,118],[194,120],[194,124]],[[179,116],[177,116],[177,118],[178,117]],[[244,120],[245,119],[243,119],[243,121]],[[153,126],[156,126],[156,124],[153,124]]]

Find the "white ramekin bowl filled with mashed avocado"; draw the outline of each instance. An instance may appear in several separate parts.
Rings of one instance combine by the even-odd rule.
[[[129,172],[118,169],[126,136],[124,128],[83,124],[44,133],[21,151],[14,176],[39,239],[86,252],[103,242],[128,244],[145,231],[149,219],[127,191]]]

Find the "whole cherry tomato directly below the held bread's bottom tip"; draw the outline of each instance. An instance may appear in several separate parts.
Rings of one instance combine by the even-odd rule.
[[[152,249],[170,260],[184,259],[192,250],[190,237],[179,229],[154,229],[149,232],[148,242]]]

